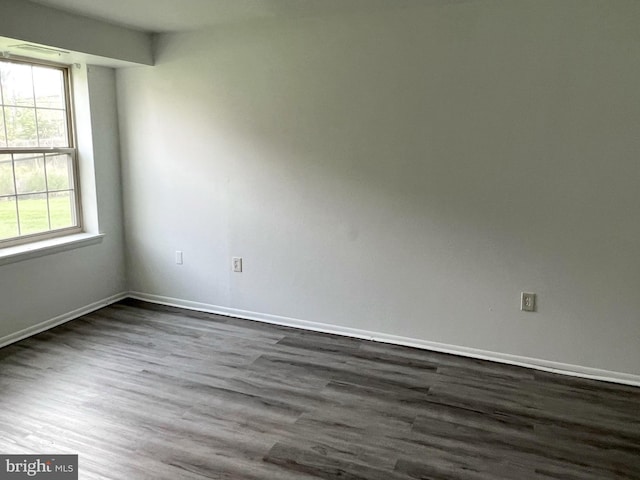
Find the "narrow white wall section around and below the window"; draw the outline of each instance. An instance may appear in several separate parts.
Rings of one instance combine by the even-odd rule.
[[[97,198],[104,239],[97,245],[0,266],[0,339],[127,290],[115,71],[89,67],[77,75],[82,78],[76,86],[85,87],[79,100],[83,106],[90,102],[90,128],[81,127],[93,132],[90,153],[95,178],[85,182],[83,193],[87,202],[91,195],[94,204]]]

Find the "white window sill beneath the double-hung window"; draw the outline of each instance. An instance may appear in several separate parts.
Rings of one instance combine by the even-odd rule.
[[[43,257],[54,253],[66,252],[75,248],[96,245],[102,242],[104,233],[77,233],[65,237],[50,238],[26,245],[16,245],[0,249],[0,266],[22,262],[31,258]]]

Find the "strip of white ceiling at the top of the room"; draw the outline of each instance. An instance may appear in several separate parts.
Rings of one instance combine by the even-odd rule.
[[[456,0],[32,0],[146,32],[175,32],[273,17],[404,8]],[[460,1],[460,0],[457,0]]]

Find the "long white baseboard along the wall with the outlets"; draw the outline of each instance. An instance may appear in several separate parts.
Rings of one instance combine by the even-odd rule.
[[[256,320],[259,322],[272,323],[275,325],[282,325],[286,327],[302,328],[305,330],[313,330],[316,332],[333,333],[337,335],[362,338],[376,342],[391,343],[394,345],[404,345],[407,347],[421,348],[424,350],[432,350],[435,352],[451,353],[463,357],[477,358],[480,360],[490,360],[492,362],[517,365],[526,368],[534,368],[536,370],[559,373],[572,377],[589,378],[593,380],[602,380],[606,382],[640,386],[640,375],[633,375],[630,373],[601,370],[597,368],[554,362],[550,360],[542,360],[538,358],[529,358],[519,355],[480,350],[477,348],[461,347],[457,345],[448,345],[444,343],[430,342],[427,340],[420,340],[415,338],[400,337],[387,333],[378,333],[356,328],[341,327],[338,325],[309,322],[297,318],[250,312],[246,310],[221,307],[218,305],[210,305],[207,303],[191,302],[189,300],[152,295],[142,292],[129,292],[129,297],[161,305],[186,308],[189,310],[198,310],[202,312],[215,313],[218,315],[225,315],[230,317],[244,318],[247,320]]]

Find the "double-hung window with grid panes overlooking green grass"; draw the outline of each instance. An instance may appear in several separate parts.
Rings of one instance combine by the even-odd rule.
[[[0,248],[80,232],[65,66],[0,59]]]

